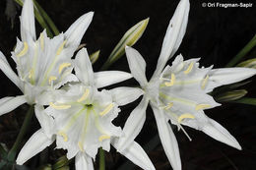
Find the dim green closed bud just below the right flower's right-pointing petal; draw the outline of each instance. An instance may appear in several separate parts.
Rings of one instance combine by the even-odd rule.
[[[220,102],[237,100],[237,99],[243,97],[245,94],[247,94],[247,90],[245,90],[245,89],[226,91],[226,92],[218,95],[216,97],[216,100],[220,101]]]

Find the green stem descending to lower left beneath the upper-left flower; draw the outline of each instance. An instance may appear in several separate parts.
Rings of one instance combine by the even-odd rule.
[[[20,147],[21,143],[23,142],[24,136],[26,135],[27,130],[29,129],[29,127],[31,125],[32,114],[33,114],[33,105],[30,106],[30,109],[26,113],[26,117],[23,122],[21,131],[20,131],[16,141],[14,142],[13,147],[10,149],[10,151],[8,153],[7,159],[9,161],[13,161],[16,157],[17,149]]]

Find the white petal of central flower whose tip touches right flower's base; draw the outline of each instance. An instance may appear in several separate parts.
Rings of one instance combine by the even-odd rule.
[[[144,93],[141,88],[126,86],[113,88],[110,92],[112,94],[113,101],[115,101],[119,106],[135,101]]]

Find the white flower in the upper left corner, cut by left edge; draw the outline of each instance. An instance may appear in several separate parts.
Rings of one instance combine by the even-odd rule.
[[[51,90],[70,81],[76,81],[71,74],[71,57],[93,19],[93,12],[80,17],[67,31],[49,38],[45,30],[35,37],[32,0],[26,0],[21,16],[21,38],[17,38],[12,58],[17,64],[18,76],[0,52],[0,69],[24,93],[22,96],[6,97],[1,100],[0,115],[28,102],[37,103],[43,91]],[[0,107],[0,108],[1,108]]]

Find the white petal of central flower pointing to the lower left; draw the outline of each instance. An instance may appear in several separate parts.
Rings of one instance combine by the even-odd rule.
[[[42,129],[36,131],[31,139],[25,143],[22,150],[20,151],[16,162],[18,165],[24,164],[27,160],[31,159],[32,156],[37,154],[38,152],[42,151],[45,147],[49,146],[53,139],[48,139]]]

